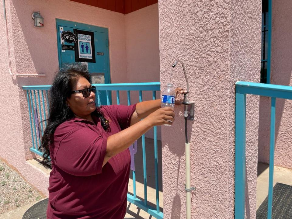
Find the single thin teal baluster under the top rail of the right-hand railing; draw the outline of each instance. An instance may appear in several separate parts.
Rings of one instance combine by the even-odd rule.
[[[276,123],[276,98],[272,97],[272,99],[271,99],[271,125],[270,125],[269,193],[268,193],[268,217],[267,217],[267,219],[272,219],[274,152],[275,152],[275,123]]]

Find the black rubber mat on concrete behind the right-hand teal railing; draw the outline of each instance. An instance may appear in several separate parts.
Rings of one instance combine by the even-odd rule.
[[[292,186],[276,183],[273,187],[272,219],[292,219]],[[256,211],[256,219],[266,219],[268,196]]]

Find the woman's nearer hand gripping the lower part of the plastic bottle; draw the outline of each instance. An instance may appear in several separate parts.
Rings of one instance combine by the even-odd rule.
[[[169,124],[172,125],[174,121],[174,109],[171,107],[164,107],[155,110],[149,114],[144,120],[147,120],[151,126]]]

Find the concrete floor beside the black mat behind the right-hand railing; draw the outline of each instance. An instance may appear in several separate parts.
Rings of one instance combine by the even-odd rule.
[[[277,182],[292,186],[292,169],[274,166],[273,186]],[[268,196],[269,188],[269,165],[258,163],[258,178],[256,185],[256,209]]]

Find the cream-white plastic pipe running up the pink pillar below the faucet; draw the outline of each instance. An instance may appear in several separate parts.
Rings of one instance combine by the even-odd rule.
[[[186,189],[191,188],[191,165],[190,165],[190,144],[186,147]],[[191,219],[191,191],[186,190],[186,219]]]

